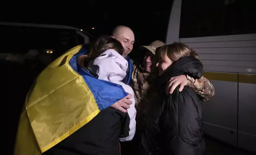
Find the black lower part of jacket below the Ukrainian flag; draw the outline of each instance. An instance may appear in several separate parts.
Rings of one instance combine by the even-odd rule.
[[[119,155],[119,138],[129,136],[129,123],[128,113],[106,108],[43,155]]]

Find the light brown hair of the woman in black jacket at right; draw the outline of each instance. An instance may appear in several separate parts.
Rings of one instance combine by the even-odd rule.
[[[158,47],[155,51],[157,57],[161,61],[165,61],[165,55],[173,62],[177,61],[181,57],[193,56],[196,59],[200,59],[196,51],[189,49],[189,47],[183,43],[175,42],[170,45],[164,45]]]

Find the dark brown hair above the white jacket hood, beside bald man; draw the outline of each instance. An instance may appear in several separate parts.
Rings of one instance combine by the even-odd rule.
[[[89,49],[89,58],[95,59],[108,49],[114,49],[120,55],[124,53],[124,47],[120,42],[118,42],[118,40],[112,38],[111,36],[102,35],[91,44]]]

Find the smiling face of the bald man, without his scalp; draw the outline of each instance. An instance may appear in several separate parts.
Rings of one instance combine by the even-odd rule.
[[[132,51],[135,42],[133,32],[130,30],[123,30],[119,36],[114,36],[114,38],[124,47],[123,56],[126,57]]]

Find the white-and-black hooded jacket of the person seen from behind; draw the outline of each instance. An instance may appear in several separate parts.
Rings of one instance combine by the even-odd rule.
[[[96,59],[90,60],[85,67],[98,79],[119,84],[124,91],[134,95],[130,86],[120,82],[126,76],[128,63],[114,49],[109,49]],[[115,100],[114,97],[110,98]],[[134,98],[132,102],[133,104],[127,110],[128,113],[120,112],[112,107],[102,110],[89,123],[43,155],[120,154],[119,140],[132,140],[136,130]]]

